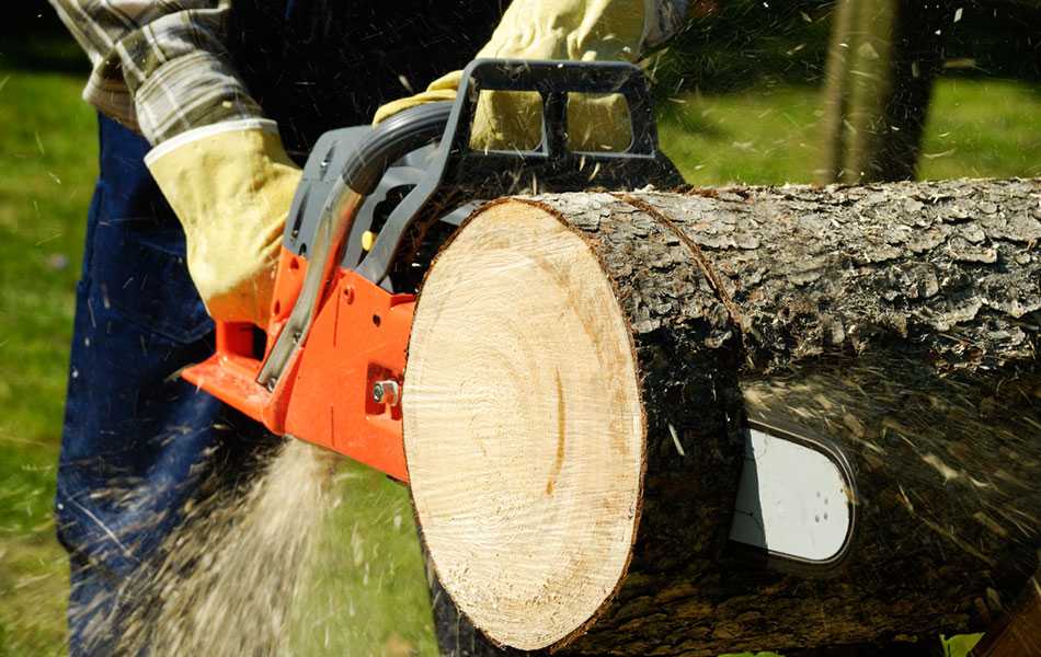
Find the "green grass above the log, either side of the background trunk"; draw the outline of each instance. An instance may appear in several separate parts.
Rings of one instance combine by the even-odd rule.
[[[814,180],[820,95],[803,87],[666,101],[662,148],[687,181],[781,184]],[[942,80],[929,108],[918,176],[1041,175],[1041,93],[1004,80]]]

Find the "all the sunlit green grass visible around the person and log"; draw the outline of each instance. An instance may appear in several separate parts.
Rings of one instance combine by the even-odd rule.
[[[3,66],[0,656],[47,655],[64,642],[67,575],[50,504],[96,135],[93,112],[79,100],[82,79]],[[817,101],[815,90],[798,87],[684,96],[662,111],[662,142],[695,184],[810,181]],[[1041,94],[1026,85],[943,81],[920,173],[1041,175],[1039,116]],[[341,631],[329,643],[306,629],[296,641],[316,653],[433,654],[408,496],[376,473],[346,473],[328,564],[340,575],[328,581],[351,604],[338,610]]]

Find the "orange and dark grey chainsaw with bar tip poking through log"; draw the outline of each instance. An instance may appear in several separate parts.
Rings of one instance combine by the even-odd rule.
[[[536,149],[470,147],[484,91],[541,97]],[[575,93],[625,97],[627,150],[569,149],[567,106]],[[416,289],[438,249],[481,199],[682,182],[659,150],[639,68],[473,61],[454,102],[412,107],[376,127],[342,128],[318,140],[286,221],[266,327],[217,322],[216,353],[182,376],[276,435],[408,484],[400,402]],[[849,549],[856,509],[850,502],[827,515],[815,505],[854,498],[842,450],[782,420],[750,419],[744,435],[731,540],[780,569],[831,570]]]

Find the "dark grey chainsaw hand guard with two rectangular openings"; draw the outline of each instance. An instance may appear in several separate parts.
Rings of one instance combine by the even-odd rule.
[[[536,149],[470,148],[482,91],[539,95],[542,131]],[[632,135],[629,147],[611,152],[572,151],[568,146],[568,97],[572,93],[625,97]],[[465,189],[471,199],[491,199],[520,192],[526,181],[536,181],[539,189],[551,192],[582,192],[591,186],[636,188],[667,178],[674,171],[671,163],[663,162],[657,148],[647,79],[638,67],[624,61],[477,59],[462,71],[441,145],[427,175],[394,208],[356,267],[377,285],[390,273],[412,221],[438,193]]]

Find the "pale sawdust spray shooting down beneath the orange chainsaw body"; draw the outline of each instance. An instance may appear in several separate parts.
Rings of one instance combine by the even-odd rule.
[[[186,509],[160,564],[128,584],[117,654],[282,655],[334,456],[290,440],[244,494]]]

